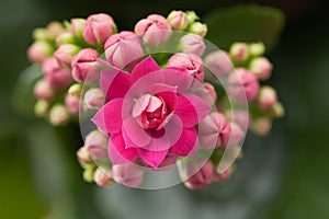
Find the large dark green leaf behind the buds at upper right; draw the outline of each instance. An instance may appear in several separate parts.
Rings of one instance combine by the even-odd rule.
[[[234,42],[263,42],[273,48],[284,27],[281,10],[256,4],[216,9],[204,16],[208,25],[207,39],[222,49]]]

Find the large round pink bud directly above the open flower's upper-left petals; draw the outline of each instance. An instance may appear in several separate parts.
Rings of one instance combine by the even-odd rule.
[[[143,57],[139,37],[133,32],[121,32],[109,37],[104,46],[106,59],[117,68],[129,67]]]

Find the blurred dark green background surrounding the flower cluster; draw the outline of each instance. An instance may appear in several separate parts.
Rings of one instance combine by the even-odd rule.
[[[285,117],[268,137],[249,134],[232,178],[202,191],[84,183],[75,154],[82,146],[78,127],[56,129],[34,118],[31,91],[14,92],[22,90],[20,72],[30,65],[32,31],[95,12],[132,30],[149,13],[173,9],[195,10],[219,48],[264,41],[274,64],[269,83],[279,91]],[[329,218],[329,13],[319,0],[1,0],[0,14],[0,218]]]

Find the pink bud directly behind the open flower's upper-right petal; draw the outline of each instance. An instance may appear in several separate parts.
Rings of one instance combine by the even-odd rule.
[[[203,62],[201,58],[194,54],[174,54],[168,60],[168,66],[184,68],[190,76],[198,81],[203,82],[204,80]]]

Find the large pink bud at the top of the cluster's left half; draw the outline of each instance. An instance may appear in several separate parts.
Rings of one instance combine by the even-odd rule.
[[[88,16],[83,38],[91,45],[104,44],[116,32],[115,23],[109,14],[99,13]]]

